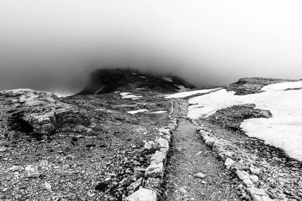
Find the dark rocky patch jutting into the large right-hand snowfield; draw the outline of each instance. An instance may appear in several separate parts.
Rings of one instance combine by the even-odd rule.
[[[272,114],[268,110],[255,109],[254,104],[244,104],[232,106],[216,111],[208,117],[213,123],[220,124],[222,127],[233,131],[240,130],[240,124],[252,118],[271,118]]]

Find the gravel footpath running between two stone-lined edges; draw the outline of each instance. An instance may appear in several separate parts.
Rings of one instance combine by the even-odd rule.
[[[172,117],[179,117],[177,107],[179,103],[175,101]],[[203,144],[196,134],[196,126],[189,120],[179,119],[171,150],[166,167],[166,201],[240,200],[236,192],[238,179]]]

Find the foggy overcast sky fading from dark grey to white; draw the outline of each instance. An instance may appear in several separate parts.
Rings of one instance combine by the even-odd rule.
[[[302,78],[302,1],[0,1],[0,89],[80,91],[98,67],[195,85]]]

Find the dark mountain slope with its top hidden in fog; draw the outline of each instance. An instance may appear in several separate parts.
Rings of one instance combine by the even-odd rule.
[[[89,83],[76,95],[111,93],[123,89],[135,91],[137,88],[171,93],[186,91],[195,86],[175,76],[157,77],[131,69],[98,69],[90,74]]]

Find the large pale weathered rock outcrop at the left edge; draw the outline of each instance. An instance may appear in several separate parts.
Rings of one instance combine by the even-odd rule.
[[[1,90],[0,95],[11,103],[11,123],[15,130],[26,125],[27,129],[41,135],[90,131],[87,128],[91,123],[88,113],[60,102],[51,92],[14,89]]]

